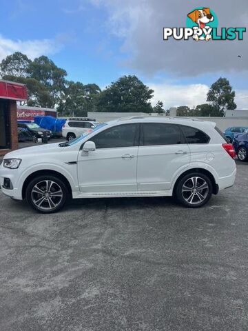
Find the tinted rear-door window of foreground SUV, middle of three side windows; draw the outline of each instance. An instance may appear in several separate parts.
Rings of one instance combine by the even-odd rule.
[[[176,124],[142,124],[141,146],[178,145],[180,143],[184,143],[184,139]]]

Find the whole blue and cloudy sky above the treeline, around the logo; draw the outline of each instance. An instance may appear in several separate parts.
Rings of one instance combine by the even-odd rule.
[[[163,28],[185,27],[200,6],[220,27],[247,28],[244,40],[163,41]],[[227,77],[238,109],[248,109],[247,0],[1,0],[0,22],[0,61],[46,55],[68,79],[101,88],[136,74],[165,109],[205,103],[211,83]]]

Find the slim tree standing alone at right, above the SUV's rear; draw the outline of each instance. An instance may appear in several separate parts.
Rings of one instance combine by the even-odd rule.
[[[234,102],[235,91],[230,86],[228,79],[220,77],[207,93],[207,101],[218,110],[218,116],[223,116],[226,109],[237,108]]]

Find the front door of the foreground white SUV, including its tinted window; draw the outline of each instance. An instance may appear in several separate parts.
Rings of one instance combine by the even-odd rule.
[[[136,192],[139,125],[123,124],[90,139],[93,152],[79,151],[78,178],[82,193]]]

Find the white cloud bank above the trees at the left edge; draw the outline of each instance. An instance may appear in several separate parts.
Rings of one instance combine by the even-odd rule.
[[[0,61],[14,52],[22,52],[30,59],[34,59],[41,55],[55,54],[63,47],[61,40],[61,37],[58,37],[57,39],[34,39],[22,41],[20,39],[6,39],[0,34]]]

